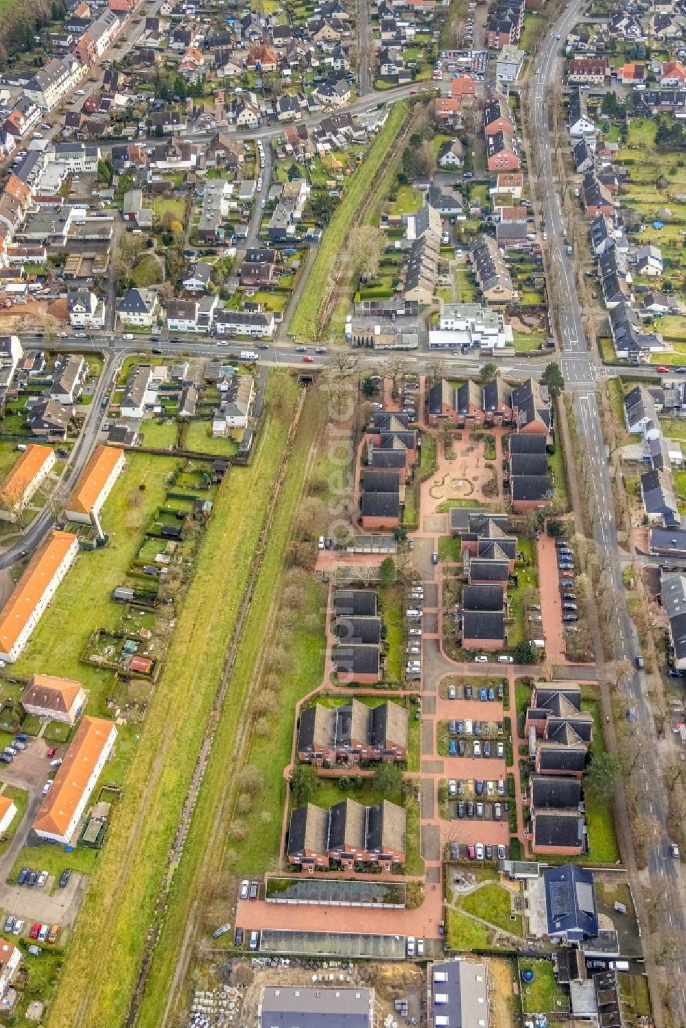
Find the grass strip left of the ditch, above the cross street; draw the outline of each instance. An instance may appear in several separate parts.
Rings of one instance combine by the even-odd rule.
[[[334,264],[340,259],[344,240],[366,193],[372,188],[376,176],[384,167],[388,152],[395,142],[406,113],[406,103],[401,102],[393,106],[386,124],[371,145],[369,153],[352,175],[342,204],[336,209],[324,232],[322,245],[315,258],[308,284],[302,290],[302,295],[295,308],[290,325],[292,335],[306,340],[316,338],[317,318],[322,297],[333,272]]]

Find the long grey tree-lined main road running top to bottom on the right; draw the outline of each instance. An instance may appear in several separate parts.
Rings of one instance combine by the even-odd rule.
[[[581,307],[576,291],[574,269],[567,256],[564,224],[562,220],[559,196],[555,192],[556,182],[552,174],[552,140],[548,127],[547,90],[552,83],[559,81],[559,43],[578,19],[582,3],[572,3],[565,10],[554,29],[549,33],[546,43],[541,49],[535,64],[533,82],[534,125],[537,139],[542,145],[544,154],[543,192],[545,225],[550,241],[550,258],[559,270],[561,281],[561,333],[564,356],[561,367],[574,396],[574,413],[576,415],[579,442],[587,454],[590,468],[590,506],[594,509],[594,537],[601,559],[609,568],[611,588],[614,597],[616,630],[614,632],[615,656],[618,661],[627,660],[636,668],[636,658],[640,648],[636,629],[628,616],[624,601],[624,589],[621,580],[621,563],[617,528],[614,517],[612,486],[606,458],[606,447],[601,428],[601,417],[594,394],[594,382],[601,370],[591,360],[583,332]],[[650,373],[649,369],[646,369]],[[678,950],[664,958],[667,975],[670,1002],[675,1015],[675,1022],[686,1025],[686,925],[682,907],[681,864],[675,860],[669,849],[667,804],[658,782],[663,781],[657,757],[658,743],[655,725],[647,700],[648,685],[644,673],[634,670],[622,686],[627,701],[636,708],[638,724],[646,741],[645,761],[640,765],[642,784],[645,785],[645,796],[641,803],[642,813],[647,824],[657,824],[656,833],[650,833],[646,842],[648,853],[648,869],[651,887],[656,895],[660,888],[667,887],[667,924],[662,925],[663,932],[671,932],[678,940]],[[638,773],[638,767],[637,767]]]

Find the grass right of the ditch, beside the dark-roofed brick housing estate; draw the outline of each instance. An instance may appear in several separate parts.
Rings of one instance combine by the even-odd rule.
[[[309,394],[292,444],[262,566],[229,677],[226,701],[221,708],[183,856],[170,889],[165,924],[139,1011],[139,1028],[156,1028],[161,1023],[169,995],[172,991],[175,995],[180,991],[181,983],[173,985],[173,979],[182,948],[191,943],[184,938],[186,925],[196,902],[205,903],[204,914],[208,915],[207,904],[211,898],[208,890],[217,874],[225,873],[226,869],[219,871],[222,861],[229,871],[238,866],[242,874],[257,875],[275,867],[278,860],[287,787],[283,770],[291,756],[295,703],[321,682],[324,670],[326,587],[316,582],[308,586],[306,610],[313,616],[305,613],[300,617],[291,633],[288,654],[292,662],[288,673],[283,675],[278,709],[267,718],[268,735],[265,738],[255,734],[250,744],[247,763],[258,769],[262,788],[253,798],[251,809],[242,814],[246,829],[243,839],[229,835],[230,849],[224,850],[236,794],[240,790],[241,737],[251,728],[251,704],[259,677],[256,670],[268,644],[265,637],[267,616],[273,617],[274,600],[281,592],[287,545],[301,498],[310,449],[323,425],[323,401],[321,394]],[[232,763],[227,755],[231,755]],[[227,791],[230,795],[222,809]],[[220,891],[223,895],[224,890]],[[203,927],[204,920],[201,922]]]

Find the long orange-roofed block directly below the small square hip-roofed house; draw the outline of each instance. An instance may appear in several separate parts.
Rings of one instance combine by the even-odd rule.
[[[113,722],[83,718],[33,822],[39,838],[65,846],[73,841],[115,739]]]

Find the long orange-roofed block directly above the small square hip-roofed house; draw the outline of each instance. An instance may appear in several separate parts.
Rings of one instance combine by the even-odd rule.
[[[0,611],[0,660],[13,663],[78,553],[70,531],[51,533],[34,553]]]

